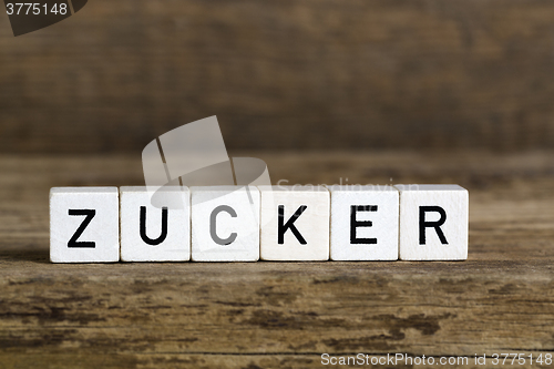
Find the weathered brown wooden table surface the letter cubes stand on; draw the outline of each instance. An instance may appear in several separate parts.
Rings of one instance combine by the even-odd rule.
[[[494,353],[554,352],[554,152],[242,154],[274,183],[458,183],[469,260],[54,265],[49,188],[140,185],[141,157],[1,156],[0,368],[320,368],[324,352],[471,368],[475,353],[502,367]]]

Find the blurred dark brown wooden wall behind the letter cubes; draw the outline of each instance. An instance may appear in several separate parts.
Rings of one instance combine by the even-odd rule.
[[[550,0],[91,0],[14,38],[0,152],[136,152],[216,114],[228,148],[553,147]]]

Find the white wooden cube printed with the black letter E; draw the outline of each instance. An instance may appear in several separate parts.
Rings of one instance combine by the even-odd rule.
[[[398,189],[377,185],[328,188],[331,260],[398,260]]]

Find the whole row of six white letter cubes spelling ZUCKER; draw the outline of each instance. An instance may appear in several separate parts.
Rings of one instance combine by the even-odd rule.
[[[146,187],[51,188],[51,262],[468,258],[469,194],[458,185],[174,187],[157,195],[154,206]]]

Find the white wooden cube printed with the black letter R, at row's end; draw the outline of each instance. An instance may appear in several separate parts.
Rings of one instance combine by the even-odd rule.
[[[458,185],[396,185],[400,191],[400,259],[465,260],[469,194]]]

